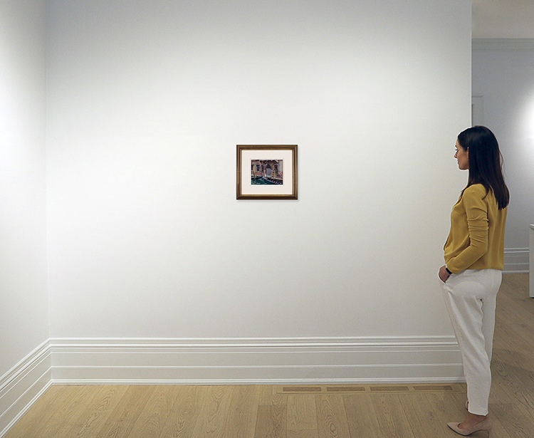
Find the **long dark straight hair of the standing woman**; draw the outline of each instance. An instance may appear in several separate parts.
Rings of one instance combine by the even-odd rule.
[[[469,154],[466,188],[473,184],[482,184],[487,193],[490,190],[493,192],[498,208],[505,208],[510,202],[510,192],[503,177],[503,156],[493,132],[485,126],[469,127],[460,132],[458,142]]]

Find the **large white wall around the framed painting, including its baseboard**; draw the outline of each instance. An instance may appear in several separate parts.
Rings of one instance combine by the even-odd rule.
[[[436,272],[467,177],[453,155],[470,124],[470,7],[49,1],[54,376],[142,378],[155,363],[120,348],[168,342],[206,353],[155,360],[169,379],[217,364],[236,380],[336,377],[330,365],[349,379],[359,356],[329,364],[328,348],[404,342],[460,377]],[[253,144],[298,145],[297,201],[235,199],[236,145]],[[224,356],[266,343],[317,355]]]

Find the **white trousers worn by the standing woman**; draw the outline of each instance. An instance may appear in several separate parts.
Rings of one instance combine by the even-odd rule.
[[[495,308],[502,272],[467,269],[444,283],[444,298],[464,361],[471,414],[487,415]]]

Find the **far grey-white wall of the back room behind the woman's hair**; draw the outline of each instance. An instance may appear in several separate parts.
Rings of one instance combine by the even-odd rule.
[[[528,225],[534,224],[534,40],[473,41],[473,95],[495,132],[511,192],[505,268],[528,271]]]

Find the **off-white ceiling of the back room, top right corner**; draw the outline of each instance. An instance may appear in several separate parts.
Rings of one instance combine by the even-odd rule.
[[[534,38],[534,0],[473,0],[473,38]]]

